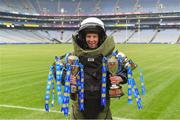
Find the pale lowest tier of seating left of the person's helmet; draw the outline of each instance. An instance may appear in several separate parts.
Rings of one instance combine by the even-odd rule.
[[[0,30],[0,44],[68,43],[74,31]]]

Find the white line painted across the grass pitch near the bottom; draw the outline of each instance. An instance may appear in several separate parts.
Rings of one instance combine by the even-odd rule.
[[[3,104],[0,104],[0,107],[46,112],[44,109],[40,109],[40,108],[15,106],[15,105],[3,105]],[[50,110],[50,112],[62,113],[61,111],[56,111],[56,110]],[[114,120],[130,120],[130,119],[127,119],[127,118],[120,118],[120,117],[113,117],[113,119]]]

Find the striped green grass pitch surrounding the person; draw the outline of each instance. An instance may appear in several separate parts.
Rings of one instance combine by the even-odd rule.
[[[147,93],[143,109],[127,104],[127,94],[111,101],[114,117],[128,119],[180,119],[180,45],[116,45],[143,69]],[[0,105],[44,108],[49,65],[54,56],[72,51],[72,45],[1,45]],[[134,71],[136,81],[138,72]],[[123,86],[127,93],[127,85]],[[59,107],[53,108],[58,110]],[[64,119],[47,113],[0,107],[0,119]]]

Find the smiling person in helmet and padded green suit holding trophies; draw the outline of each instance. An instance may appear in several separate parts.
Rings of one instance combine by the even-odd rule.
[[[106,107],[101,105],[102,58],[112,54],[115,48],[113,37],[106,35],[104,23],[100,19],[90,17],[81,22],[72,38],[74,54],[84,65],[84,111],[79,111],[77,98],[72,98],[71,119],[112,119],[109,87],[111,83],[127,82],[126,70],[113,77],[108,72]],[[76,84],[75,76],[71,76],[71,83]]]

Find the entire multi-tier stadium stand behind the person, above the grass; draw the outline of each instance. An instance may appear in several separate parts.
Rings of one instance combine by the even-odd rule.
[[[0,0],[0,43],[70,43],[89,16],[116,43],[180,43],[179,8],[179,0]]]

